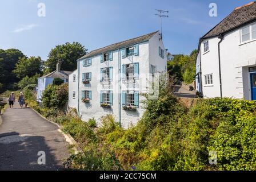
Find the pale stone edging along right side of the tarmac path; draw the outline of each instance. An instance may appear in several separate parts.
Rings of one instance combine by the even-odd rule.
[[[73,146],[74,146],[72,149],[74,150],[75,154],[78,154],[78,153],[83,152],[82,149],[79,147],[78,143],[75,142],[74,138],[73,138],[70,134],[64,133],[64,131],[62,131],[62,127],[61,127],[58,123],[55,123],[55,122],[53,122],[53,121],[50,121],[49,119],[47,119],[46,117],[44,117],[42,114],[38,113],[38,111],[34,110],[34,109],[31,108],[31,107],[29,107],[29,108],[30,108],[31,110],[33,110],[35,113],[37,113],[37,114],[39,115],[39,117],[41,117],[41,118],[45,119],[46,121],[48,121],[48,122],[50,122],[50,123],[52,123],[52,124],[58,126],[58,128],[59,128],[58,131],[59,131],[59,133],[61,133],[61,134],[64,136],[66,142],[69,143],[70,145],[73,145]],[[0,117],[0,125],[1,125],[1,117]]]

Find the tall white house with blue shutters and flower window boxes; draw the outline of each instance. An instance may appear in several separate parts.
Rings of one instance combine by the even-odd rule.
[[[157,31],[91,51],[69,76],[69,107],[83,121],[113,114],[122,127],[135,125],[145,111],[140,93],[155,73],[166,72],[165,50]]]

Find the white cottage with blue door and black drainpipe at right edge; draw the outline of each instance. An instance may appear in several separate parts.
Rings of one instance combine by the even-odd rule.
[[[204,98],[256,100],[256,2],[237,7],[198,49],[197,90]]]

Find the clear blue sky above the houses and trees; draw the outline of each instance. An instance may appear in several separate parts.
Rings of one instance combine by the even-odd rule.
[[[18,48],[43,60],[51,48],[79,42],[89,51],[160,29],[154,9],[169,10],[163,42],[173,54],[189,54],[198,40],[237,6],[253,0],[1,0],[0,48]],[[45,3],[46,16],[37,15]],[[209,16],[216,3],[218,16]]]

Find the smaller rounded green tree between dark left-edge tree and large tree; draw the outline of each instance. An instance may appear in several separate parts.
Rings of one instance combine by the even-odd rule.
[[[13,71],[18,78],[25,76],[32,77],[36,74],[42,74],[42,60],[41,57],[21,57]]]

